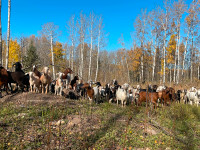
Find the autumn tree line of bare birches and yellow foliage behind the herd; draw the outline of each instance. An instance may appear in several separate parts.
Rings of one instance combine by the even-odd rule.
[[[127,47],[122,34],[121,47],[112,52],[106,50],[103,18],[81,12],[66,23],[66,43],[59,42],[61,32],[54,23],[44,24],[38,37],[21,36],[9,42],[4,37],[1,62],[11,68],[21,61],[27,71],[33,63],[51,66],[53,78],[55,72],[70,67],[85,81],[196,82],[200,78],[199,6],[200,0],[189,5],[184,0],[165,0],[162,8],[142,10],[133,23],[132,47]]]

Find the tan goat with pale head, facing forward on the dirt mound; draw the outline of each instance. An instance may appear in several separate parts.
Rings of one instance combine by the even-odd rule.
[[[40,77],[40,81],[42,83],[42,93],[44,93],[44,90],[46,89],[45,94],[47,94],[49,91],[49,85],[51,84],[51,77],[49,76],[49,72],[50,72],[49,68],[44,67],[42,72],[43,74]]]

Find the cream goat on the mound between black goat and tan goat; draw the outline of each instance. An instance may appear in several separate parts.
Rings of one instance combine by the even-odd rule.
[[[29,83],[30,83],[30,92],[40,92],[40,78],[34,74],[34,72],[29,72]]]

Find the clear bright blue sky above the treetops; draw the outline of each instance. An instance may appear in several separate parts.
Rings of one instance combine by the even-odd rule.
[[[2,32],[7,30],[7,0],[2,0]],[[11,0],[11,37],[30,36],[41,30],[47,22],[59,26],[62,35],[60,42],[67,42],[66,25],[70,17],[81,11],[89,14],[93,11],[102,15],[104,30],[109,34],[105,49],[112,51],[120,47],[118,39],[124,35],[126,46],[132,44],[133,23],[141,9],[151,11],[162,7],[162,0]]]

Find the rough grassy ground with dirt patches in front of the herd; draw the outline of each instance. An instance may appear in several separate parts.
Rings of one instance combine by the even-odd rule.
[[[200,149],[196,106],[122,108],[31,93],[0,104],[0,149]]]

